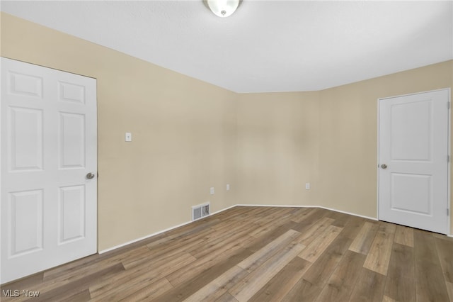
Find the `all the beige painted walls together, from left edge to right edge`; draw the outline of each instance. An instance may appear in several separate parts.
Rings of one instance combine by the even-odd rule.
[[[449,61],[323,91],[235,94],[6,13],[1,55],[97,79],[99,250],[185,223],[205,201],[377,217],[377,99],[453,86]]]

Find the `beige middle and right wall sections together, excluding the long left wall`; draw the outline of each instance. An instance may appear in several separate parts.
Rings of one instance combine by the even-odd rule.
[[[322,91],[241,94],[238,201],[377,218],[377,99],[453,87],[452,72],[447,61]]]

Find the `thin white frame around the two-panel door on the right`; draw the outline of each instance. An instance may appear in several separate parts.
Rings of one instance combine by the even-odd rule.
[[[448,129],[447,129],[447,155],[449,157],[449,160],[447,162],[447,209],[448,209],[448,216],[447,216],[447,225],[445,225],[445,234],[447,234],[449,237],[453,237],[453,234],[450,233],[450,228],[451,228],[451,220],[452,220],[452,209],[450,207],[450,204],[452,203],[452,196],[451,196],[451,166],[452,166],[452,89],[451,88],[442,88],[442,89],[434,89],[434,90],[428,90],[428,91],[419,91],[419,92],[414,92],[413,94],[401,94],[397,96],[387,96],[384,98],[379,98],[377,99],[377,169],[376,169],[376,174],[377,174],[377,220],[380,220],[379,218],[379,104],[381,100],[384,99],[394,99],[398,98],[401,96],[413,96],[415,94],[424,94],[428,92],[435,92],[435,91],[447,91],[448,92]]]

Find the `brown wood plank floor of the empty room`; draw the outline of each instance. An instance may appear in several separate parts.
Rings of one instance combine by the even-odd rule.
[[[238,206],[1,293],[1,301],[453,301],[453,238],[322,208]]]

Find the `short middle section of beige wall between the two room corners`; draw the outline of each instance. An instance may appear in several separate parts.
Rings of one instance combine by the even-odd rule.
[[[316,204],[318,121],[317,91],[239,95],[238,203]]]

